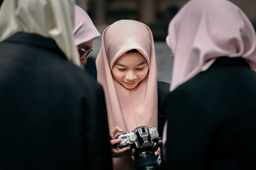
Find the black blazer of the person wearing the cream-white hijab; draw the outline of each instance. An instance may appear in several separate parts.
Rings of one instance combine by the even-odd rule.
[[[0,169],[111,169],[102,87],[55,41],[0,43]]]

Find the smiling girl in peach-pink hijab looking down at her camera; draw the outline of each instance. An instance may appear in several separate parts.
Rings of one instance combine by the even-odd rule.
[[[111,144],[120,143],[116,134],[140,126],[158,127],[162,134],[162,101],[169,85],[157,83],[154,39],[149,27],[135,20],[119,20],[109,25],[102,35],[96,66],[106,97]],[[157,84],[161,89],[157,89]],[[112,149],[116,157],[114,169],[136,169],[127,154],[129,150]]]

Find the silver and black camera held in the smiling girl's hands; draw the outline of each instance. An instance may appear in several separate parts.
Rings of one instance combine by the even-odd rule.
[[[135,149],[134,159],[138,170],[159,169],[155,151],[162,144],[156,127],[141,126],[134,131],[125,132],[116,136],[116,139],[122,139],[116,145],[117,149],[130,146]]]

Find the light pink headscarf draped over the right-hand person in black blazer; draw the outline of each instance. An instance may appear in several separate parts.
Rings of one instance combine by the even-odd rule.
[[[243,57],[256,71],[255,30],[230,1],[189,1],[170,22],[166,43],[174,55],[171,91],[221,56]]]

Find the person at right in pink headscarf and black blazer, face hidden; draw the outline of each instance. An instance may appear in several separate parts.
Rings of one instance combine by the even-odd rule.
[[[191,0],[170,22],[168,169],[256,169],[256,38],[226,0]],[[172,106],[170,106],[172,104]]]

